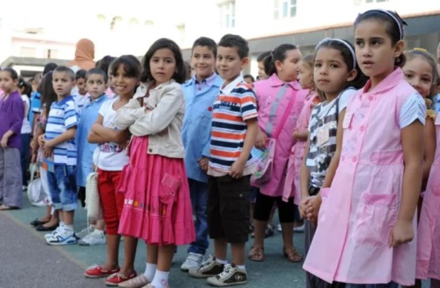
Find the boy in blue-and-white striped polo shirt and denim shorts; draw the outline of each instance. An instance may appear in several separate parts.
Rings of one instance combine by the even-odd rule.
[[[76,145],[78,108],[70,91],[75,84],[75,74],[65,66],[53,72],[53,86],[58,100],[51,105],[45,134],[40,145],[45,150],[48,165],[48,184],[55,210],[62,210],[63,222],[45,236],[49,245],[76,244],[73,215],[78,207],[76,194]]]

